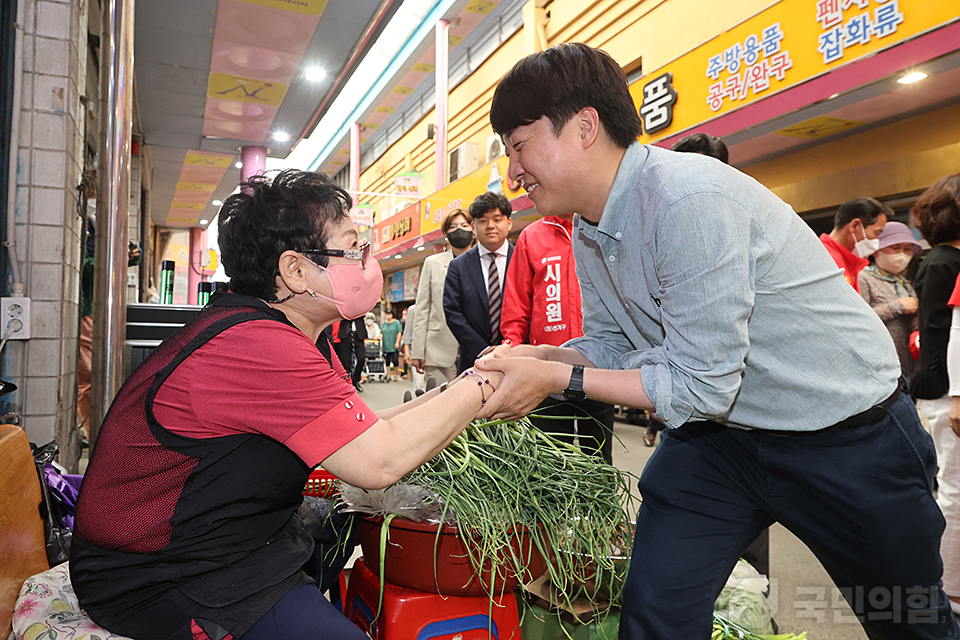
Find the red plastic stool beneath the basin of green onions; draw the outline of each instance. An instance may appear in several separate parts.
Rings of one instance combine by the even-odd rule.
[[[363,558],[350,571],[344,615],[374,640],[520,640],[516,596],[508,592],[494,599],[441,596],[383,585]],[[492,616],[491,616],[492,609]]]

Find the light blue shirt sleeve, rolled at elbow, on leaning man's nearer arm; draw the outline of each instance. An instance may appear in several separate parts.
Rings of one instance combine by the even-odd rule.
[[[658,221],[654,263],[663,346],[624,354],[640,368],[656,416],[671,427],[723,420],[748,357],[756,297],[754,238],[745,208],[719,193],[685,196]],[[798,265],[799,268],[799,265]]]

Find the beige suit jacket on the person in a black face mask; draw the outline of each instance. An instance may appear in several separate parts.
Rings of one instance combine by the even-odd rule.
[[[453,253],[428,256],[420,270],[417,301],[414,303],[410,357],[428,367],[452,367],[457,363],[457,339],[443,313],[443,284]]]

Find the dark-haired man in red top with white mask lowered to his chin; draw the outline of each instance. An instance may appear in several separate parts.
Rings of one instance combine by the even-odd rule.
[[[893,217],[893,209],[873,198],[854,198],[840,205],[833,219],[833,231],[820,234],[827,253],[843,269],[843,275],[857,292],[857,276],[870,262],[867,258],[880,248],[880,234]]]

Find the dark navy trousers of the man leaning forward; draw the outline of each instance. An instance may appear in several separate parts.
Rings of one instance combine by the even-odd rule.
[[[960,638],[941,588],[935,469],[905,393],[859,427],[665,430],[640,479],[621,640],[709,638],[730,571],[774,522],[813,551],[870,638]]]

